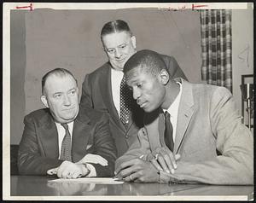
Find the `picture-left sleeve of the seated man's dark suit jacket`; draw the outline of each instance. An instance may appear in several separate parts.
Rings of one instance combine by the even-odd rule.
[[[35,122],[31,116],[24,119],[24,131],[18,153],[18,168],[20,175],[47,175],[51,168],[61,165],[63,160],[50,159],[40,151]]]

